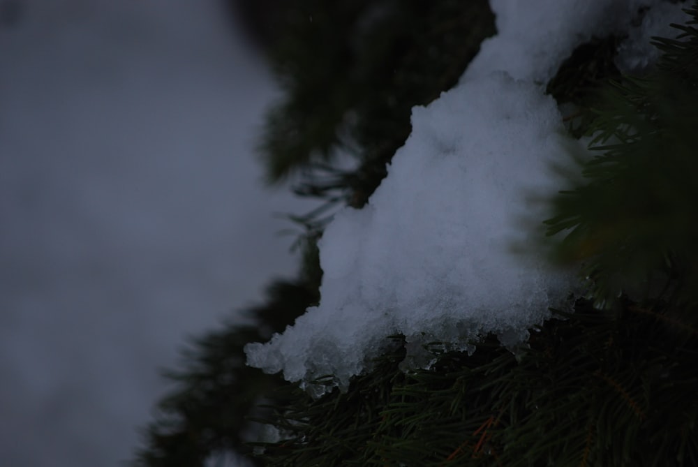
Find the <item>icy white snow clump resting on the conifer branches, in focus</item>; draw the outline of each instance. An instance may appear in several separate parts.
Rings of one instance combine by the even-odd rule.
[[[309,381],[332,374],[346,388],[392,334],[411,350],[443,341],[471,351],[468,339],[487,332],[512,349],[524,343],[574,288],[572,271],[526,251],[545,218],[530,200],[560,189],[551,165],[576,144],[545,85],[577,45],[632,29],[644,4],[493,0],[498,34],[456,88],[413,109],[413,132],[369,205],[327,227],[319,306],[248,344],[248,364],[318,396],[325,387]],[[404,367],[428,366],[423,357]]]

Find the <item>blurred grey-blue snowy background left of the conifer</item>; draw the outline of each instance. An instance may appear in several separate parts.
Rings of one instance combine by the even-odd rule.
[[[222,0],[0,0],[0,466],[117,466],[186,336],[295,273]]]

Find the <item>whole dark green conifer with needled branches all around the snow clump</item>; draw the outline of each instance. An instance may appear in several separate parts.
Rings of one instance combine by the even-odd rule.
[[[289,34],[272,52],[286,99],[269,114],[262,151],[269,179],[297,177],[297,193],[327,209],[361,207],[409,134],[410,108],[455,84],[493,34],[492,17],[485,2],[324,3],[276,15]],[[405,339],[386,336],[389,351],[346,392],[313,399],[242,360],[244,343],[318,301],[327,211],[295,217],[306,227],[302,278],[270,289],[255,325],[195,344],[140,465],[202,466],[251,447],[265,466],[698,465],[698,3],[687,14],[681,36],[655,39],[663,56],[651,73],[622,75],[611,36],[578,47],[548,84],[577,109],[570,133],[597,154],[577,156],[581,175],[547,221],[564,234],[551,237],[553,259],[584,262],[588,295],[574,313],[555,311],[516,355],[495,336],[473,355],[434,343],[428,370],[401,370]],[[356,168],[336,168],[341,154]],[[245,444],[252,419],[280,439]]]

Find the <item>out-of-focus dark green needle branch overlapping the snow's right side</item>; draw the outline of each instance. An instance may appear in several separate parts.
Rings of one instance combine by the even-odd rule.
[[[698,10],[689,10],[695,18]],[[690,24],[691,24],[690,23]],[[698,303],[698,31],[657,39],[658,70],[607,89],[587,129],[583,179],[554,200],[562,260],[584,260],[591,297],[621,290]]]

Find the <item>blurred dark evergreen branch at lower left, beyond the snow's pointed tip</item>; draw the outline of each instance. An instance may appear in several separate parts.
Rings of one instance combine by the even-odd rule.
[[[159,403],[136,465],[197,467],[216,452],[250,451],[244,444],[253,431],[247,417],[283,379],[246,366],[242,348],[282,332],[318,302],[316,285],[304,282],[278,281],[267,296],[265,306],[251,309],[250,324],[202,336],[184,352],[184,369],[166,373],[177,387]]]

